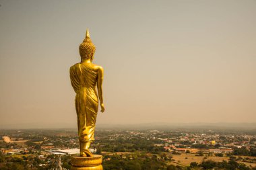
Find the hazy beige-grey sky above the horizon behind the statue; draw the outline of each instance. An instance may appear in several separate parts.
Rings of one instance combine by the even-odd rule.
[[[256,1],[0,1],[0,128],[76,127],[90,29],[97,124],[256,122]]]

